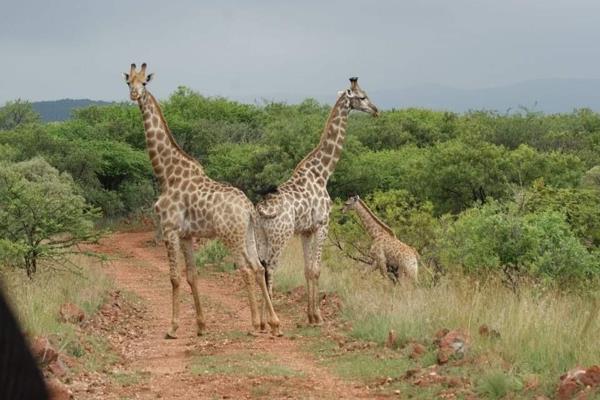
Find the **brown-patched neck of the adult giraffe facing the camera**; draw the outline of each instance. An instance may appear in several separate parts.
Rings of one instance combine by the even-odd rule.
[[[175,141],[154,96],[145,91],[138,100],[138,105],[144,119],[146,148],[161,188],[164,189],[168,184],[168,178],[175,165],[191,165],[196,174],[203,174],[202,166],[187,155]]]

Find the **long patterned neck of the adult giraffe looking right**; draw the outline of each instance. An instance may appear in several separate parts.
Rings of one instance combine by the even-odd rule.
[[[342,154],[349,113],[350,101],[344,93],[329,113],[318,146],[298,163],[294,172],[304,168],[309,169],[316,176],[322,177],[324,184],[327,184]]]

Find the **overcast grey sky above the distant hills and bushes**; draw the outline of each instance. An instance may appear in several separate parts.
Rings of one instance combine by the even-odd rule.
[[[1,103],[126,100],[143,61],[160,98],[600,78],[600,1],[2,0],[0,54]]]

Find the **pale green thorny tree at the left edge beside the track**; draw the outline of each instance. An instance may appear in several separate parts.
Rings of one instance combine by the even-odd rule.
[[[29,277],[39,260],[64,263],[74,246],[96,239],[98,217],[71,177],[42,158],[0,165],[0,259]]]

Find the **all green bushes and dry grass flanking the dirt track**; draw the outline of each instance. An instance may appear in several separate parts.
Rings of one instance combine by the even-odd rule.
[[[310,99],[249,105],[184,87],[162,106],[181,147],[253,201],[289,177],[329,112]],[[321,290],[341,301],[342,342],[375,343],[340,353],[337,336],[319,328],[291,332],[311,338],[306,352],[332,374],[378,394],[431,398],[454,387],[459,397],[534,398],[553,395],[574,366],[598,364],[600,114],[352,115],[329,192],[337,207]],[[339,207],[350,194],[419,251],[417,285],[365,275],[368,236]],[[68,300],[93,313],[115,285],[88,268],[79,246],[124,219],[146,218],[156,196],[137,106],[82,108],[54,123],[27,102],[0,109],[0,273],[28,332],[75,336],[51,308]],[[212,243],[198,260],[199,268],[218,264],[226,251]],[[280,293],[303,285],[297,243],[276,274]],[[459,383],[406,377],[436,365],[442,329],[468,337],[461,359],[435,369]],[[71,339],[62,346],[83,356]],[[416,344],[423,354],[414,356]]]

